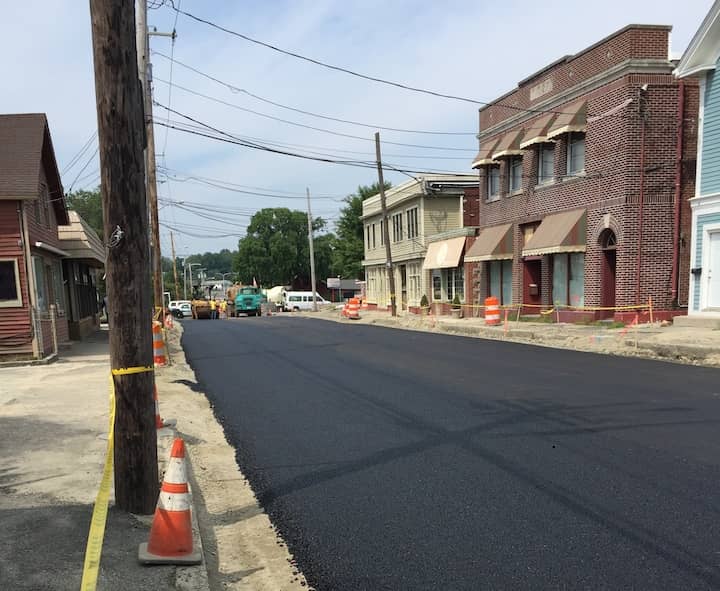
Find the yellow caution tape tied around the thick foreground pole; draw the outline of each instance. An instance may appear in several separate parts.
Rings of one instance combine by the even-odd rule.
[[[123,376],[153,371],[152,367],[127,367],[110,370],[110,413],[108,418],[108,445],[105,453],[105,467],[103,468],[100,490],[95,497],[88,543],[85,548],[85,563],[83,576],[80,582],[80,591],[95,591],[100,571],[100,555],[105,538],[105,523],[107,521],[108,504],[110,502],[110,481],[113,471],[113,448],[115,439],[115,382],[112,376]]]

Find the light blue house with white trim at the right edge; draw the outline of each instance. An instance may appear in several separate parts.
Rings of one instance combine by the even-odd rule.
[[[700,79],[698,167],[692,208],[688,315],[720,317],[720,0],[678,64],[679,78]]]

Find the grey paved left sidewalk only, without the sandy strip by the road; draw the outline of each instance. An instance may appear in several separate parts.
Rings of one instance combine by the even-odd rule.
[[[80,588],[107,448],[109,371],[107,327],[55,363],[0,369],[0,589]],[[168,435],[158,438],[160,477]],[[148,541],[152,517],[113,502],[98,589],[208,588],[204,566],[141,566],[138,545]]]

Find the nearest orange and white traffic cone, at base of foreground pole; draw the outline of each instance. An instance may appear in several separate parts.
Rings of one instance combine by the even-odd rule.
[[[170,463],[165,472],[150,541],[140,544],[138,560],[142,564],[200,564],[200,552],[193,550],[190,519],[190,493],[185,467],[185,443],[173,442]]]

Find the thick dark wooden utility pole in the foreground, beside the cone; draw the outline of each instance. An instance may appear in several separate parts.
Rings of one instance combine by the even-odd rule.
[[[95,94],[107,242],[108,322],[113,369],[152,368],[148,216],[142,90],[134,0],[90,0]],[[149,515],[158,495],[152,371],[113,376],[115,499]]]

